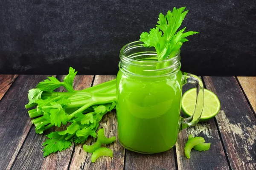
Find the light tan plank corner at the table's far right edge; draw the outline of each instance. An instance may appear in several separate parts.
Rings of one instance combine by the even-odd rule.
[[[256,112],[256,77],[237,77],[254,113]]]

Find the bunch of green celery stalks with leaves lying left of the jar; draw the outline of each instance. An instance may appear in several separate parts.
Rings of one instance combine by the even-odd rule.
[[[96,130],[102,117],[116,106],[116,80],[102,83],[81,91],[73,89],[75,69],[70,67],[64,82],[55,77],[40,82],[29,90],[26,108],[36,133],[61,125],[71,124],[63,131],[49,133],[44,142],[44,156],[65,150],[75,143],[84,143],[88,136],[96,138]],[[63,86],[67,92],[56,92]]]

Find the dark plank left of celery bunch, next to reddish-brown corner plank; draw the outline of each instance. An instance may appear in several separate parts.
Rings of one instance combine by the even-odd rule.
[[[31,122],[25,104],[28,91],[46,76],[20,75],[0,101],[0,169],[10,169]]]

